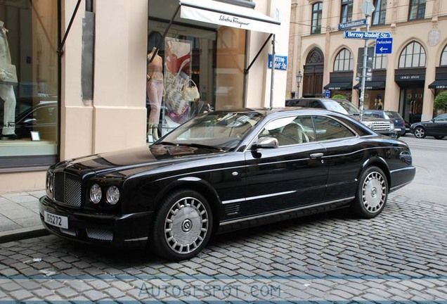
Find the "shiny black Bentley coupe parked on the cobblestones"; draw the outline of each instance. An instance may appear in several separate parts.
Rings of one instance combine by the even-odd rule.
[[[377,216],[415,176],[408,146],[346,115],[287,108],[198,115],[150,146],[48,168],[40,215],[66,239],[149,244],[170,260],[213,233],[351,208]]]

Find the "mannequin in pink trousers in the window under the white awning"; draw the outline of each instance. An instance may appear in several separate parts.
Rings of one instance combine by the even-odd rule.
[[[153,61],[148,63],[148,84],[146,90],[150,103],[148,135],[152,135],[153,139],[157,140],[157,127],[160,119],[160,108],[162,106],[163,97],[163,59],[158,55],[158,50],[153,48],[152,51],[148,53],[148,61],[150,61],[154,52],[156,52],[156,55]]]

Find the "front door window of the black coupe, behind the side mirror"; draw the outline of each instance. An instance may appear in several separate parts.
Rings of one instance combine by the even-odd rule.
[[[275,137],[279,146],[305,144],[315,141],[315,131],[310,116],[291,116],[268,122],[259,137]]]

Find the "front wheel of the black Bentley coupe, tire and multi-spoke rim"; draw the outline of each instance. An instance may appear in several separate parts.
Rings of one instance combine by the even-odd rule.
[[[153,250],[168,260],[193,258],[207,245],[212,222],[205,197],[192,190],[173,192],[155,214],[150,238]]]

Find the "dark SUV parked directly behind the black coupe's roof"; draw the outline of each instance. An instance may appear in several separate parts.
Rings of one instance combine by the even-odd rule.
[[[325,98],[302,98],[302,99],[287,99],[285,106],[301,106],[304,108],[325,108],[326,110],[333,110],[338,113],[350,115],[356,120],[360,120],[360,110],[354,106],[351,101],[346,99],[325,99]],[[383,118],[368,118],[363,117],[361,120],[363,125],[366,125],[375,132],[389,137],[397,137],[394,130],[394,123],[391,120]]]

